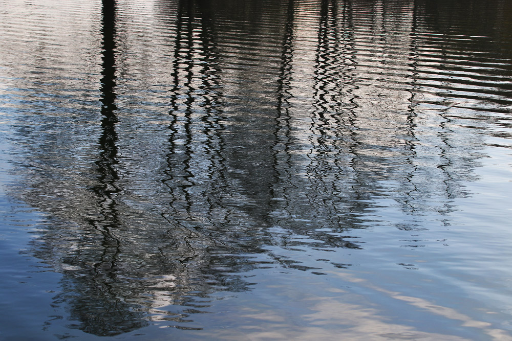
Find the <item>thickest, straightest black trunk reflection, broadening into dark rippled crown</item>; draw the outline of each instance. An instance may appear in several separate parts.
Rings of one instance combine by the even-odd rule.
[[[125,302],[122,287],[118,283],[117,261],[121,252],[121,241],[116,236],[120,228],[115,195],[120,192],[116,181],[118,135],[116,124],[116,2],[102,1],[102,57],[101,134],[99,138],[100,158],[95,162],[98,185],[92,188],[98,199],[99,217],[89,224],[100,234],[88,251],[89,261],[83,264],[82,276],[74,279],[76,299],[72,315],[79,320],[79,329],[98,336],[113,336],[141,328],[147,323],[140,320]],[[86,252],[86,251],[84,251]],[[87,258],[84,258],[86,260]],[[100,308],[101,307],[101,308]]]

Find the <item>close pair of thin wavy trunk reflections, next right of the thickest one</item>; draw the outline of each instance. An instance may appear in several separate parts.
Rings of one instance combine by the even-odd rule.
[[[166,178],[162,179],[169,190],[172,201],[169,202],[169,209],[162,213],[162,217],[169,222],[167,236],[169,242],[167,245],[168,253],[175,255],[172,262],[175,264],[175,273],[179,274],[179,281],[184,291],[193,290],[194,283],[188,281],[189,272],[194,268],[189,268],[188,263],[194,262],[200,255],[195,248],[195,239],[197,234],[189,228],[187,220],[191,218],[192,199],[188,188],[193,186],[191,182],[194,174],[190,171],[190,161],[193,155],[191,150],[191,140],[193,139],[190,126],[191,105],[194,102],[192,97],[194,89],[191,87],[193,74],[191,72],[194,64],[192,58],[193,49],[193,28],[194,5],[193,2],[179,1],[176,18],[176,32],[174,44],[174,59],[172,63],[173,86],[170,89],[170,107],[169,116],[171,122],[169,130],[169,151],[167,153],[164,170]],[[185,64],[185,66],[182,66]],[[184,72],[184,75],[181,74]],[[182,84],[184,79],[184,84]],[[183,97],[185,108],[182,108],[180,97]],[[178,140],[183,140],[183,147]],[[162,252],[163,254],[164,252]],[[178,296],[178,295],[177,295]],[[190,295],[186,298],[178,298],[178,304],[186,305],[186,302],[192,301]],[[177,322],[182,322],[181,316],[175,317]]]

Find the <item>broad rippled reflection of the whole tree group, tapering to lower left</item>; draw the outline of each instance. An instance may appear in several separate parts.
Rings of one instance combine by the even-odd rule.
[[[134,133],[117,104],[118,56],[130,46],[118,42],[118,5],[103,0],[97,138],[74,128],[89,142],[74,154],[32,146],[42,166],[27,171],[34,189],[24,194],[54,217],[34,254],[65,275],[56,303],[70,306],[75,327],[200,328],[189,316],[209,312],[219,291],[250,290],[245,272],[312,270],[287,251],[364,249],[357,229],[422,229],[422,215],[449,214],[480,157],[463,140],[478,136],[464,138],[453,112],[474,95],[439,81],[458,66],[433,71],[421,52],[433,44],[421,34],[436,26],[425,19],[434,10],[404,3],[157,2],[166,43],[151,47],[167,57],[158,73],[170,82],[156,76],[167,93],[154,121],[165,128]],[[153,169],[130,146],[163,156],[151,154]],[[55,148],[60,159],[49,161]],[[379,216],[379,200],[399,218]]]

